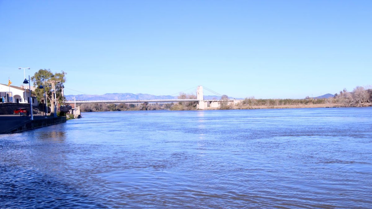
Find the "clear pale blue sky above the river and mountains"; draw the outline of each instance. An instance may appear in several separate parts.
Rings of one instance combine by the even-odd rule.
[[[26,76],[65,71],[66,94],[351,91],[372,84],[371,8],[370,0],[0,0],[0,83],[21,85],[18,67],[30,67]]]

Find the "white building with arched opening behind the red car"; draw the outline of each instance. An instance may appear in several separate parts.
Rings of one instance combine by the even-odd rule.
[[[10,102],[10,103],[27,103],[30,101],[30,91],[26,87],[8,86],[6,84],[0,84],[0,103]],[[26,92],[26,95],[25,95]],[[31,90],[32,93],[32,90]],[[32,98],[32,105],[38,106],[38,100],[36,97]]]

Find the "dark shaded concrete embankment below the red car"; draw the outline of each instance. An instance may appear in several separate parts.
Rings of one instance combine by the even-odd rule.
[[[13,134],[64,122],[66,122],[65,117],[45,118],[43,116],[35,116],[34,120],[30,120],[30,117],[27,116],[1,116],[0,134]]]

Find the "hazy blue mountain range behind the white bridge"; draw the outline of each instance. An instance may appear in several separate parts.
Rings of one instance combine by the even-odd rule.
[[[150,100],[150,99],[177,99],[178,96],[170,95],[152,95],[152,94],[132,94],[132,93],[111,93],[102,95],[89,95],[89,94],[78,94],[78,95],[65,95],[67,101],[72,101],[74,96],[76,100]],[[220,96],[204,96],[204,99],[221,99]],[[233,99],[233,98],[232,98]]]

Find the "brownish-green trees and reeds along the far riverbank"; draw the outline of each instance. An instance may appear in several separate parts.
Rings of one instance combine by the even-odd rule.
[[[181,93],[179,99],[196,99],[195,95]],[[222,95],[220,108],[216,109],[285,109],[285,108],[315,108],[315,107],[367,107],[372,106],[372,89],[356,87],[352,92],[346,89],[334,94],[334,97],[314,99],[255,99],[247,97],[244,100],[236,100],[235,104],[228,102],[228,97]],[[131,110],[197,110],[198,102],[179,102],[166,104],[81,104],[82,112],[108,112],[108,111],[131,111]]]

